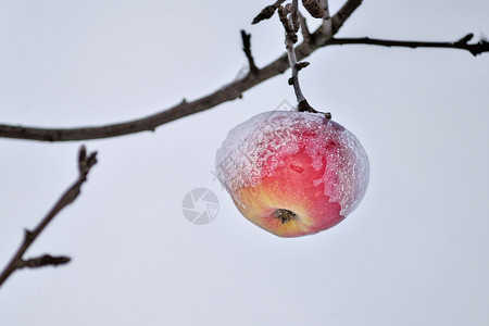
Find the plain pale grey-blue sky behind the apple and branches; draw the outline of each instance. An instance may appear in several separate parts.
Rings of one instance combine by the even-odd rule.
[[[0,1],[0,122],[99,125],[204,96],[246,66],[241,28],[259,66],[283,53],[276,17],[250,26],[272,2]],[[371,0],[340,35],[479,39],[488,13],[482,0]],[[308,61],[310,103],[371,160],[344,222],[277,238],[211,173],[231,127],[293,103],[288,72],[156,133],[85,141],[99,164],[28,252],[73,262],[15,273],[0,325],[488,325],[489,55],[346,46]],[[1,267],[76,177],[79,146],[0,139]],[[221,202],[205,226],[181,212],[198,187]]]

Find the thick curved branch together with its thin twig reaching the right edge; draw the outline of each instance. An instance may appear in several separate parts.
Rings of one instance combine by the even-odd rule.
[[[279,2],[279,1],[277,1]],[[284,2],[284,1],[281,1]],[[348,0],[344,5],[333,16],[331,29],[333,35],[338,33],[343,23],[351,16],[351,14],[359,8],[362,0]],[[322,26],[317,28],[308,40],[296,47],[297,60],[309,57],[315,50],[334,45],[374,45],[386,47],[409,47],[409,48],[447,48],[447,49],[463,49],[469,51],[472,54],[488,52],[488,42],[480,40],[477,43],[468,45],[468,38],[462,38],[455,42],[422,42],[422,41],[396,41],[396,40],[377,40],[368,38],[331,38],[325,34]],[[0,137],[30,139],[39,141],[73,141],[73,140],[89,140],[99,138],[116,137],[122,135],[129,135],[140,131],[154,131],[154,129],[165,123],[188,116],[201,111],[209,110],[226,101],[231,101],[240,98],[242,92],[259,85],[260,83],[269,79],[278,74],[284,73],[289,68],[287,53],[280,55],[277,60],[268,65],[260,68],[256,74],[248,74],[226,86],[220,88],[213,93],[200,98],[192,102],[183,101],[181,103],[161,111],[153,115],[142,118],[105,125],[98,127],[80,127],[80,128],[37,128],[23,127],[13,125],[0,125]]]

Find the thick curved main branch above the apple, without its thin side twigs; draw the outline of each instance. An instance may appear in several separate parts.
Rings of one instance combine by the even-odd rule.
[[[276,3],[281,2],[284,1],[277,1]],[[350,17],[350,15],[361,4],[361,2],[362,0],[348,0],[346,4],[338,11],[338,13],[333,17],[334,34],[341,28],[343,23]],[[304,41],[296,47],[296,53],[299,61],[324,46],[326,38],[322,37],[324,36],[324,34],[321,29],[322,28],[316,29],[316,32],[312,35],[313,42]],[[321,39],[323,39],[323,43],[319,42]],[[288,67],[289,64],[287,53],[284,53],[267,66],[260,68],[256,74],[248,74],[247,76],[238,80],[227,84],[226,86],[220,88],[209,96],[205,96],[192,102],[183,101],[181,103],[167,110],[129,122],[79,128],[38,128],[14,125],[0,125],[0,137],[39,141],[73,141],[110,138],[140,131],[154,131],[158,126],[161,126],[165,123],[204,110],[209,110],[226,101],[231,101],[240,98],[243,91],[259,85],[266,79],[284,73]]]

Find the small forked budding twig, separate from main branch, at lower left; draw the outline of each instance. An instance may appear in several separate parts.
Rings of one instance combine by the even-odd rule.
[[[42,218],[42,221],[37,225],[34,230],[25,230],[24,240],[21,243],[17,252],[14,254],[12,260],[5,266],[3,272],[0,274],[0,287],[9,278],[12,273],[16,269],[24,267],[42,267],[42,266],[58,266],[61,264],[66,264],[70,262],[67,256],[51,256],[45,254],[39,258],[24,260],[24,254],[29,249],[30,244],[37,239],[37,237],[42,233],[42,230],[48,226],[48,224],[58,215],[58,213],[65,206],[71,204],[76,200],[76,198],[82,192],[82,185],[87,180],[87,175],[91,167],[97,163],[97,152],[92,152],[87,156],[87,150],[85,146],[82,146],[78,152],[78,177],[75,183],[66,189],[66,191],[61,196],[51,211]]]

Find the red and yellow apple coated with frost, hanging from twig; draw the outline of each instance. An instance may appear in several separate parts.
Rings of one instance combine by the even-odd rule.
[[[215,165],[241,214],[280,237],[335,226],[359,205],[368,185],[362,145],[321,113],[255,115],[228,133]]]

